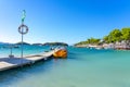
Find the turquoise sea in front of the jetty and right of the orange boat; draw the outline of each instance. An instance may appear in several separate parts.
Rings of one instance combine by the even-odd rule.
[[[130,51],[70,47],[66,60],[1,72],[0,87],[130,87]]]

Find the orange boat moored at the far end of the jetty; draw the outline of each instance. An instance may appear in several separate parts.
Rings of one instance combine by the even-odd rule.
[[[54,58],[67,58],[67,50],[65,48],[58,48],[57,51],[53,53]]]

